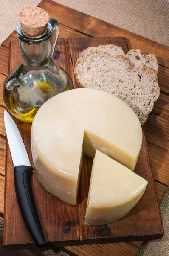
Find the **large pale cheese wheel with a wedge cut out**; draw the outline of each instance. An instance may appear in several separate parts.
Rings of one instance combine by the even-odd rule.
[[[49,99],[34,117],[32,156],[48,192],[76,204],[82,155],[96,149],[134,170],[142,143],[135,112],[114,95],[80,88]]]

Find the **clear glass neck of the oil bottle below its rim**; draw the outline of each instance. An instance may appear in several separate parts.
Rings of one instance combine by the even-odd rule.
[[[44,66],[51,56],[51,38],[39,44],[25,43],[20,40],[20,52],[25,64],[30,66]]]

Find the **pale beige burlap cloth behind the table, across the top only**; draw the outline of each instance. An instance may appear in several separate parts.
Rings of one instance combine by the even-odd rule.
[[[169,45],[169,0],[54,1]],[[38,3],[40,0],[0,0],[0,44],[16,29],[18,13]]]

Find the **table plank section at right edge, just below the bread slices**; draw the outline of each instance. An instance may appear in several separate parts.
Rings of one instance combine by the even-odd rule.
[[[169,150],[169,119],[152,112],[144,128],[149,142]]]

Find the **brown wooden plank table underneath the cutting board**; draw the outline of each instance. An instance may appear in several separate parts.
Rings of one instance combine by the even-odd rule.
[[[98,36],[124,36],[129,49],[141,49],[152,52],[158,59],[160,97],[155,102],[152,113],[145,124],[149,157],[157,189],[158,201],[161,202],[169,186],[169,47],[136,35],[110,23],[85,15],[84,13],[62,6],[51,0],[42,0],[39,7],[45,9],[50,17],[58,20],[60,38],[81,38]],[[0,46],[0,215],[3,216],[5,185],[6,132],[3,122],[3,82],[8,75],[8,53],[10,40],[18,39],[14,31]],[[61,247],[60,249],[75,256],[136,256],[141,242],[99,244]]]

